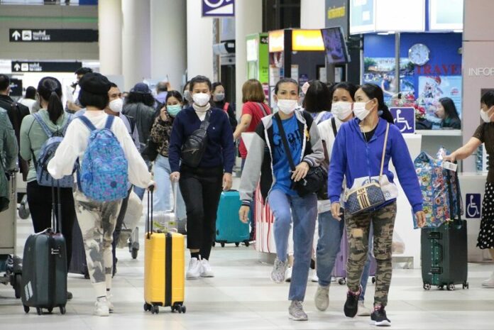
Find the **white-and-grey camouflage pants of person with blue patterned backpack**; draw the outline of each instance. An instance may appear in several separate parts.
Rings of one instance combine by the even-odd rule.
[[[75,213],[82,231],[87,270],[97,297],[111,289],[111,242],[122,201],[96,202],[75,190]]]

